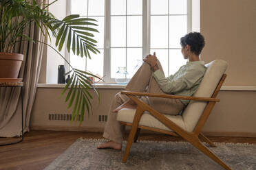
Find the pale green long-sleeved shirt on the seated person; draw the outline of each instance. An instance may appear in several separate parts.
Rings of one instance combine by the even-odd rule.
[[[204,77],[206,66],[203,61],[186,62],[186,65],[169,77],[165,77],[164,73],[159,69],[153,73],[156,82],[164,93],[173,95],[192,96]],[[184,105],[189,104],[189,100],[180,100]]]

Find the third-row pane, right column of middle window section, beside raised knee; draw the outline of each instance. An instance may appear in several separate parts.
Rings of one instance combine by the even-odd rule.
[[[142,48],[127,49],[127,72],[129,78],[136,73],[142,63]]]

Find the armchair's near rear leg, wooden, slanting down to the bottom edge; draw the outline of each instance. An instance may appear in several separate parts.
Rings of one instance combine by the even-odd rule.
[[[200,151],[202,151],[206,156],[209,156],[212,160],[217,162],[219,165],[224,167],[224,169],[231,170],[228,165],[226,165],[220,158],[218,158],[211,150],[209,150],[206,146],[204,146],[203,143],[200,142],[199,138],[193,137],[192,140],[189,140],[189,143],[191,143],[194,147],[198,148]]]

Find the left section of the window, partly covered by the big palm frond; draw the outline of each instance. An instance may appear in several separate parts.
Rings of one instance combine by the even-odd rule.
[[[104,20],[105,20],[105,1],[104,0],[71,0],[70,13],[80,14],[81,16],[96,19],[98,21],[99,34],[95,34],[94,39],[98,41],[98,50],[100,53],[97,55],[90,53],[92,60],[89,58],[80,58],[70,53],[70,64],[76,69],[86,70],[94,73],[95,75],[103,76],[103,58],[104,58]]]

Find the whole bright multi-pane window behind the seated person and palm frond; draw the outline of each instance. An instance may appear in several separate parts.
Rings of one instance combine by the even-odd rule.
[[[191,30],[191,0],[69,0],[68,12],[98,21],[100,54],[67,56],[78,69],[113,83],[118,67],[134,75],[148,53],[156,51],[166,76],[186,63],[180,37]]]

